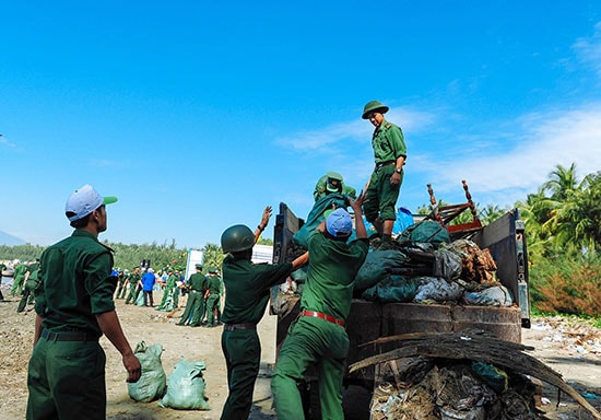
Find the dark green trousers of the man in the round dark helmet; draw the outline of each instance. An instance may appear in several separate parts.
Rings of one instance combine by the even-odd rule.
[[[254,329],[234,331],[224,329],[221,336],[221,348],[225,357],[229,389],[221,420],[247,420],[252,406],[255,381],[261,363],[259,336]]]

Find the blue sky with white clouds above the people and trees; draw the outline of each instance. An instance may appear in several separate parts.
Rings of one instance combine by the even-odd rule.
[[[373,170],[366,102],[408,145],[399,206],[510,208],[601,170],[601,2],[2,1],[0,231],[70,234],[83,184],[111,242],[202,247],[316,180]],[[271,228],[266,233],[272,236]]]

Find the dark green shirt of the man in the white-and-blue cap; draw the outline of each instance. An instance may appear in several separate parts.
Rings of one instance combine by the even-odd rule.
[[[35,311],[44,318],[43,328],[82,330],[101,337],[95,315],[115,310],[113,262],[110,248],[83,230],[44,250],[35,301]]]

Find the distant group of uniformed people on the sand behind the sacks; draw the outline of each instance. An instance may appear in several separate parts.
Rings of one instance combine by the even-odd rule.
[[[181,270],[176,268],[163,268],[154,272],[152,268],[135,267],[128,269],[114,269],[117,277],[115,299],[125,300],[126,304],[149,306],[143,299],[142,278],[146,272],[154,273],[154,290],[162,290],[163,298],[158,305],[153,305],[156,311],[174,312],[184,306],[184,314],[177,325],[190,327],[214,327],[221,325],[221,296],[223,296],[223,281],[216,267],[209,267],[207,275],[202,275],[202,265],[197,265],[197,273],[201,275],[201,285],[192,284],[186,279]],[[198,281],[197,281],[198,283]],[[200,289],[200,290],[197,290]]]

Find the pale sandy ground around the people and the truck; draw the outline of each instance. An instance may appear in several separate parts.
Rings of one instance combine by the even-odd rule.
[[[4,296],[8,291],[3,289]],[[155,292],[155,302],[161,293]],[[32,306],[16,313],[19,300],[8,298],[0,302],[0,419],[23,419],[27,401],[27,361],[32,351],[35,314]],[[106,338],[102,345],[106,350],[107,365],[107,418],[111,420],[150,419],[219,419],[227,397],[226,372],[221,352],[222,328],[178,327],[181,311],[172,318],[167,313],[151,307],[125,305],[117,301],[117,312],[123,330],[132,347],[139,341],[146,345],[161,343],[163,368],[167,376],[181,359],[207,363],[204,378],[207,397],[212,409],[209,411],[185,411],[161,408],[157,401],[135,402],[129,398],[126,372],[119,353]],[[522,342],[535,348],[531,354],[563,374],[568,384],[589,397],[589,402],[601,408],[601,332],[589,326],[569,326],[563,320],[533,319],[532,329],[522,329]],[[582,338],[582,334],[586,337]],[[257,380],[250,419],[275,419],[271,407],[270,372],[275,361],[275,317],[266,316],[259,325],[262,342],[261,372]],[[580,334],[580,336],[579,336]],[[347,419],[368,419],[369,394],[364,389],[350,389],[354,402],[346,408]],[[557,392],[545,386],[541,407],[550,419],[592,418],[577,405],[563,396],[557,407]]]

